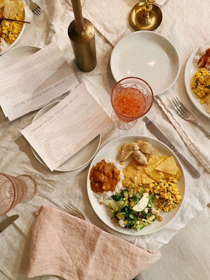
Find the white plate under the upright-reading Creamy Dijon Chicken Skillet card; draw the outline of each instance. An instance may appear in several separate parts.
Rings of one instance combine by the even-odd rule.
[[[35,117],[33,118],[32,122],[40,118],[43,114],[48,112],[50,109],[52,109],[56,104],[58,104],[60,100],[53,101],[49,104],[47,104],[45,107],[43,107]],[[84,146],[81,150],[79,150],[76,154],[71,156],[68,160],[66,160],[64,163],[62,163],[60,166],[58,166],[55,170],[57,171],[72,171],[76,170],[84,165],[86,165],[92,158],[95,156],[95,154],[98,151],[98,148],[101,143],[101,134],[96,136],[92,141],[90,141],[86,146]],[[31,145],[30,145],[31,146]],[[40,156],[37,154],[37,152],[33,149],[31,146],[31,151],[34,154],[35,158],[41,162],[41,164],[47,166],[43,160],[40,158]]]

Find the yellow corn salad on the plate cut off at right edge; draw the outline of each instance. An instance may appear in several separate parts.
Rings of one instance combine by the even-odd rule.
[[[201,68],[194,74],[191,90],[201,98],[201,104],[206,103],[205,97],[210,93],[210,72],[208,70]]]

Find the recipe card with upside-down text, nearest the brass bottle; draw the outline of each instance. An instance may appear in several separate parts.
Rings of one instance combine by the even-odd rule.
[[[78,80],[55,42],[22,61],[0,70],[0,104],[14,120],[46,104]]]

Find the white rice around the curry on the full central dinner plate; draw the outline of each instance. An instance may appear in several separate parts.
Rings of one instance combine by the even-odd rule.
[[[115,190],[113,192],[111,191],[104,191],[103,193],[96,193],[96,192],[93,192],[94,196],[97,196],[99,201],[102,202],[104,199],[107,199],[107,198],[110,198],[113,194],[116,194],[117,192],[120,192],[121,189],[124,189],[123,186],[122,186],[122,180],[124,179],[124,175],[122,173],[122,170],[123,170],[123,167],[119,164],[119,163],[116,163],[116,162],[113,162],[111,160],[106,160],[105,161],[107,163],[113,163],[115,168],[117,168],[118,170],[120,170],[120,181],[119,183],[117,184]]]

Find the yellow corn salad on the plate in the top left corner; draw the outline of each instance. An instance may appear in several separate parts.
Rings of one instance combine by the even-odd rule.
[[[15,16],[14,19],[19,19]],[[1,21],[0,22],[0,37],[5,40],[7,44],[13,43],[19,35],[22,28],[22,23],[15,21]]]

